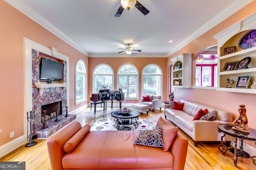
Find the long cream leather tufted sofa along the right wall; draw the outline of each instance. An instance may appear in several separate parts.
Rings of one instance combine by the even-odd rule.
[[[202,105],[199,103],[180,100],[180,103],[184,103],[182,111],[170,109],[169,104],[164,105],[164,116],[168,118],[181,130],[188,134],[193,140],[194,145],[197,146],[200,141],[221,141],[223,132],[218,132],[217,126],[222,123],[232,124],[233,114],[227,113],[226,111],[216,109],[210,106]],[[198,120],[193,121],[194,116],[200,110],[207,109],[210,111],[216,110],[215,121],[204,121]],[[232,137],[226,135],[223,141],[226,141],[226,145],[230,144]]]

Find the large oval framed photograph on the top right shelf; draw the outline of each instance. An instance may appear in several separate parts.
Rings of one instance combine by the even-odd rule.
[[[256,47],[256,30],[250,30],[238,42],[238,48],[240,50]]]

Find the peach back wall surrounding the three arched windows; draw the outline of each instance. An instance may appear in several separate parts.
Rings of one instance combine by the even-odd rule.
[[[128,56],[128,55],[127,55]],[[116,77],[117,77],[117,71],[119,67],[125,63],[130,63],[133,64],[137,67],[138,69],[138,75],[139,75],[139,99],[142,97],[141,94],[141,81],[142,81],[142,69],[148,65],[148,64],[156,64],[159,67],[161,67],[162,72],[163,72],[163,100],[168,99],[169,100],[169,92],[166,91],[167,88],[167,68],[165,67],[167,58],[138,58],[138,57],[108,57],[102,58],[102,57],[89,57],[89,71],[88,71],[88,77],[89,77],[89,82],[93,81],[92,73],[93,69],[100,63],[106,63],[112,67],[114,70],[114,90],[118,89],[117,87],[117,82],[116,82]],[[92,96],[92,83],[88,85],[88,99],[89,97]],[[116,102],[116,101],[114,101]],[[139,103],[139,100],[124,100],[122,103]]]

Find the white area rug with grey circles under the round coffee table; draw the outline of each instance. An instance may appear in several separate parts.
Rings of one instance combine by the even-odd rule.
[[[134,125],[120,125],[119,130],[127,131],[127,130],[152,130],[156,127],[156,125],[146,119],[139,118],[137,120],[138,127],[135,128]],[[91,125],[91,130],[110,130],[116,131],[116,123],[114,122],[114,118],[102,119],[100,121],[95,122]]]

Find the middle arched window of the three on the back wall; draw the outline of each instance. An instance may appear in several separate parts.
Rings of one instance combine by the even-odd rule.
[[[118,69],[118,88],[125,93],[125,99],[138,99],[138,70],[132,64]]]

